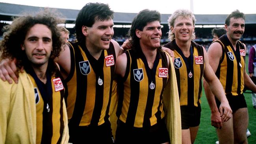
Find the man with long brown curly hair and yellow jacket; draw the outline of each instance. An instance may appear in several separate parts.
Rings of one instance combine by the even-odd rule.
[[[64,84],[54,63],[63,44],[57,27],[61,22],[45,10],[5,27],[1,59],[17,60],[19,82],[0,80],[1,144],[68,142]]]

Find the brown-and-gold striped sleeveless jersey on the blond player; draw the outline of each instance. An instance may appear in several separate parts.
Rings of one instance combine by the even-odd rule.
[[[171,41],[163,46],[174,51],[174,67],[178,84],[180,106],[200,106],[200,98],[202,96],[202,76],[204,74],[204,50],[202,46],[191,41],[189,58],[184,56],[175,41]],[[191,78],[189,76],[191,76]]]

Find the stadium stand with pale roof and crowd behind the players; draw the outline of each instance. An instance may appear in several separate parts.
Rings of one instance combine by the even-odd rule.
[[[34,7],[34,6],[24,6],[18,4],[8,4],[0,2],[0,29],[2,30],[3,26],[8,24],[12,20],[12,17],[19,17],[24,12],[36,12],[43,7]],[[50,8],[56,9],[56,8]],[[76,15],[79,10],[74,9],[56,9],[63,15],[63,18],[66,19],[66,24],[74,24],[76,20]],[[129,26],[132,22],[132,19],[135,17],[136,13],[115,13],[114,14],[114,24],[119,25],[119,27],[115,27],[115,34],[113,39],[115,39],[121,45],[126,40],[126,34],[129,30],[127,26]],[[169,31],[167,25],[167,19],[170,14],[162,14],[161,15],[161,25],[162,28],[162,39],[161,42],[163,44],[167,43]],[[245,20],[245,33],[241,38],[241,41],[247,45],[247,54],[249,54],[249,48],[256,44],[256,14],[246,14]],[[195,15],[197,18],[196,21],[196,39],[195,41],[198,44],[202,44],[206,49],[210,46],[212,41],[211,30],[213,27],[217,27],[219,25],[224,26],[224,21],[227,15]],[[210,28],[209,25],[211,26]],[[213,26],[213,27],[212,27]],[[67,28],[67,27],[66,27]],[[70,40],[75,39],[73,35],[75,33],[74,28],[67,28],[70,31]],[[0,40],[2,37],[3,31],[0,31]]]

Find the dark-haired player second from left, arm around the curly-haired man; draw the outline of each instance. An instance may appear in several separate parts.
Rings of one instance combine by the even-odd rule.
[[[57,60],[69,92],[65,99],[72,143],[114,142],[109,107],[115,63],[123,50],[112,40],[113,13],[107,4],[86,4],[76,18],[77,41],[68,42]]]

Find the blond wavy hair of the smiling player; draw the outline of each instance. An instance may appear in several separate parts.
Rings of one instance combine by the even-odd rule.
[[[175,39],[175,35],[174,33],[171,31],[171,26],[174,27],[174,22],[178,17],[182,17],[182,18],[192,18],[193,20],[193,26],[195,26],[195,22],[196,22],[196,18],[195,15],[192,13],[192,11],[188,10],[188,9],[178,9],[176,11],[174,11],[174,13],[169,17],[168,19],[168,26],[169,26],[169,32],[168,32],[168,38],[170,39],[170,41],[173,41]],[[195,35],[195,31],[192,33],[192,37],[191,39],[194,40],[196,37]]]

